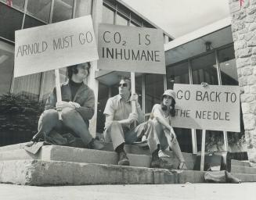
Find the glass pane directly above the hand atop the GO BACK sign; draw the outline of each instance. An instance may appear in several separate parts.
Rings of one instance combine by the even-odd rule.
[[[215,54],[210,53],[191,61],[193,84],[218,84]]]

